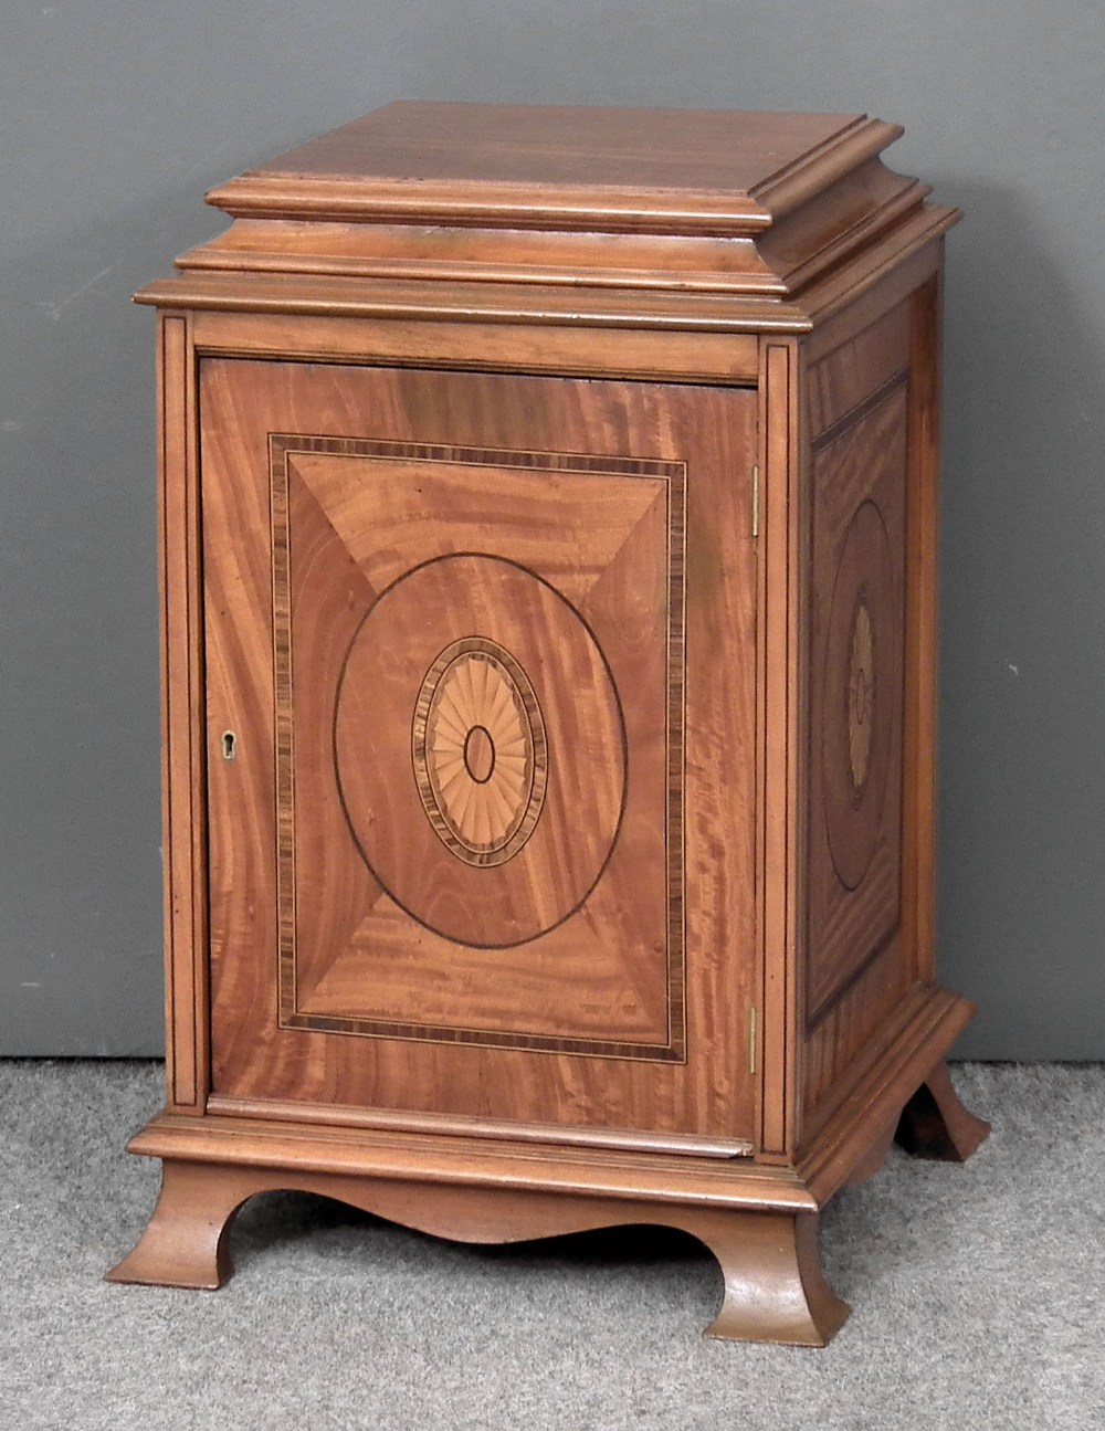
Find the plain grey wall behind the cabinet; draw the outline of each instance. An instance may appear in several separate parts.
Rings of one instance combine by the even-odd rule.
[[[152,319],[205,187],[396,97],[867,110],[949,239],[940,960],[1105,1058],[1101,0],[4,0],[0,1052],[160,1032]]]

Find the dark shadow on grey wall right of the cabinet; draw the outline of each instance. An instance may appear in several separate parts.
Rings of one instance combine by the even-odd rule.
[[[1016,196],[943,183],[939,967],[958,1056],[1105,1055],[1105,329]]]

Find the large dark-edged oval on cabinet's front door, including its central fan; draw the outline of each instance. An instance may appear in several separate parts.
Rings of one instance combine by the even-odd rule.
[[[630,793],[613,673],[575,608],[514,562],[437,557],[394,582],[351,634],[332,743],[381,907],[442,939],[551,933],[614,857]]]

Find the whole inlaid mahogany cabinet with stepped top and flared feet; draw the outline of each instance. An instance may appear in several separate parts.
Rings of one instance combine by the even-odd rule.
[[[159,309],[167,1106],[252,1193],[670,1224],[823,1342],[819,1208],[985,1132],[935,985],[939,272],[856,116],[392,104]]]

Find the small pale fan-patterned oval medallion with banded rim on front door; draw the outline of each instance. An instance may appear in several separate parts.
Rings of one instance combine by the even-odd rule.
[[[454,641],[425,674],[411,730],[418,796],[467,864],[512,859],[541,816],[545,726],[518,661],[487,637]]]

